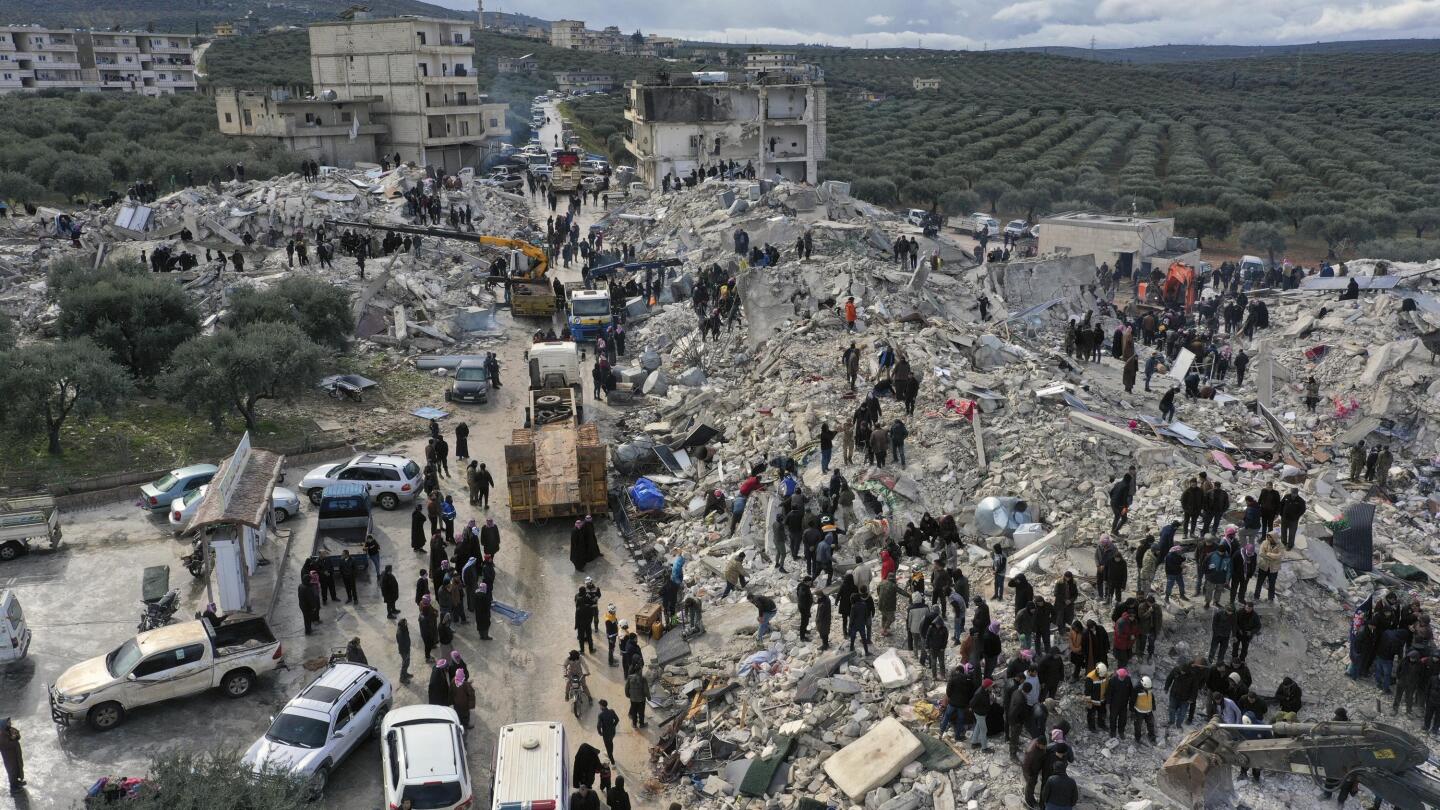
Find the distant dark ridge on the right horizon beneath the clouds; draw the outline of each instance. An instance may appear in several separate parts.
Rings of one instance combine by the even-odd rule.
[[[1008,48],[1001,52],[1045,53],[1090,59],[1096,62],[1126,62],[1132,65],[1162,65],[1171,62],[1215,62],[1225,59],[1270,59],[1274,56],[1329,56],[1335,53],[1431,53],[1440,50],[1440,39],[1358,39],[1349,42],[1308,42],[1300,45],[1149,45],[1143,48]]]

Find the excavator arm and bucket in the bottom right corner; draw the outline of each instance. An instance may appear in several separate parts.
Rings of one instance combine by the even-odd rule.
[[[1211,721],[1161,765],[1159,788],[1189,810],[1234,806],[1231,768],[1309,775],[1322,788],[1359,783],[1400,810],[1440,809],[1440,771],[1414,735],[1377,722]]]

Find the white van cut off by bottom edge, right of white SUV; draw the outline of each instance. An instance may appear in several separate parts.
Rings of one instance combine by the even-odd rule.
[[[495,738],[491,810],[570,810],[570,755],[564,725],[513,724]]]

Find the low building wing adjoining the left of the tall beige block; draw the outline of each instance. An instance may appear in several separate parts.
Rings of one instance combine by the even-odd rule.
[[[285,148],[325,166],[374,161],[383,124],[372,118],[379,97],[291,98],[285,91],[215,91],[215,114],[228,135],[278,138]]]

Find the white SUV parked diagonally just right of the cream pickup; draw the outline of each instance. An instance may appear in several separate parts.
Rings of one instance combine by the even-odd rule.
[[[245,752],[245,764],[255,773],[302,775],[310,797],[320,798],[334,768],[380,732],[393,698],[389,679],[374,667],[331,664],[275,715]]]

